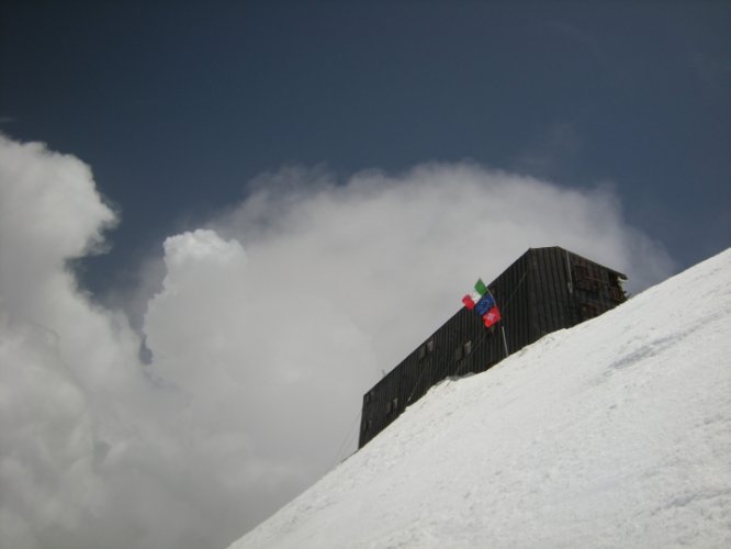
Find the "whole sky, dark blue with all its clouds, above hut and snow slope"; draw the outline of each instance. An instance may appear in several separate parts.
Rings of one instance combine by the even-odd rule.
[[[0,541],[225,547],[477,277],[728,247],[730,19],[3,2]]]

